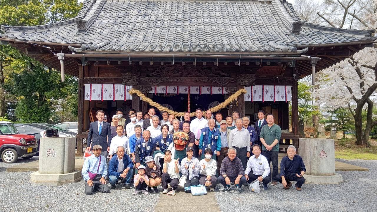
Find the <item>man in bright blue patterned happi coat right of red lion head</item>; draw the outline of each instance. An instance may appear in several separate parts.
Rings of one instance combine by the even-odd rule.
[[[210,148],[213,152],[212,159],[216,160],[217,156],[220,155],[221,140],[220,131],[215,128],[215,119],[208,119],[208,127],[202,129],[199,140],[199,156],[201,159],[204,158],[204,150]],[[203,153],[203,154],[202,154]]]

